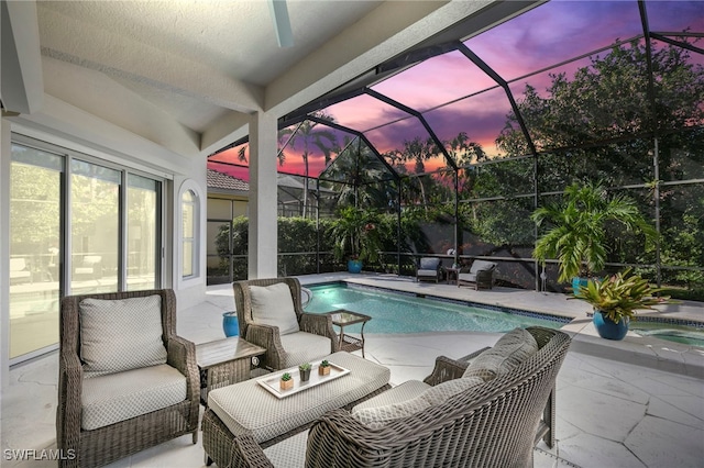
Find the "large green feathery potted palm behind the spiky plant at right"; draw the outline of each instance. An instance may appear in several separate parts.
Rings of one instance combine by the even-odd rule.
[[[534,258],[560,263],[558,281],[572,280],[578,292],[586,279],[602,271],[608,254],[606,227],[609,222],[627,231],[656,236],[654,229],[640,214],[636,202],[625,194],[608,194],[602,182],[572,183],[560,203],[539,207],[531,219],[540,229],[549,226],[536,242]]]

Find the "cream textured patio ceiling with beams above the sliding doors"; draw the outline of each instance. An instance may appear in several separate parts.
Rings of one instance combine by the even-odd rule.
[[[2,3],[15,122],[195,158],[246,135],[254,112],[285,115],[464,19],[536,1],[289,0],[292,47],[264,0]]]

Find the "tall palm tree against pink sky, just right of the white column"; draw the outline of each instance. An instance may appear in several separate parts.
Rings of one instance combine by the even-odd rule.
[[[334,122],[334,118],[326,114],[322,111],[315,112],[312,115],[318,119],[322,119],[329,122]],[[290,135],[288,142],[285,147],[278,153],[279,164],[286,158],[285,149],[286,147],[290,147],[293,149],[296,148],[296,144],[302,140],[304,152],[300,155],[304,160],[304,212],[302,216],[306,218],[308,210],[308,157],[310,156],[310,146],[317,147],[326,158],[326,165],[330,163],[332,158],[332,152],[338,147],[337,136],[334,132],[331,130],[322,130],[322,126],[318,122],[314,122],[310,120],[305,120],[294,130],[284,129],[279,132],[278,138],[282,141],[287,135]]]

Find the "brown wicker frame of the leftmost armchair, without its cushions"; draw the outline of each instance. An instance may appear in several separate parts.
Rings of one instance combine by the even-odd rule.
[[[109,425],[91,430],[84,428],[85,383],[87,380],[95,382],[99,377],[88,377],[86,375],[88,372],[84,368],[85,363],[81,361],[81,301],[89,298],[114,301],[154,296],[158,296],[161,299],[162,341],[166,352],[166,363],[153,367],[158,367],[161,371],[165,370],[169,376],[178,376],[178,372],[185,376],[186,399],[176,404]],[[155,322],[157,321],[158,319],[155,320]],[[158,337],[156,342],[158,343]],[[196,348],[191,342],[176,335],[176,298],[173,290],[130,291],[64,298],[61,305],[58,366],[56,442],[57,447],[64,454],[64,459],[59,460],[59,467],[108,465],[188,433],[193,434],[194,444],[198,442],[200,380],[196,365]],[[148,372],[151,370],[152,368],[144,367],[134,369],[132,372]],[[107,377],[119,378],[122,379],[122,382],[128,382],[129,377],[123,378],[122,376],[129,374],[130,371],[117,372]],[[144,376],[144,374],[140,375]],[[182,386],[184,378],[177,377],[177,380]],[[127,392],[129,393],[129,391],[128,388]],[[180,387],[180,391],[183,391],[183,387]],[[122,400],[122,403],[124,406],[125,401]],[[129,404],[129,401],[128,405],[132,409],[135,406]]]

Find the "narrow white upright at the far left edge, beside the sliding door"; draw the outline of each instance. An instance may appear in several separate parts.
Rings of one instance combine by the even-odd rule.
[[[0,381],[10,374],[10,122],[0,118]]]

